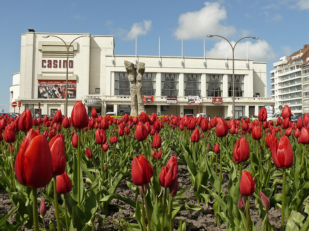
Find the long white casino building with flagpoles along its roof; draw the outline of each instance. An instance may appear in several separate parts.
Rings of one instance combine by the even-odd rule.
[[[44,35],[49,35],[44,38]],[[20,111],[53,115],[65,107],[66,46],[83,34],[21,34],[20,73],[13,74],[10,100],[20,101]],[[45,36],[46,37],[46,36]],[[103,115],[130,111],[130,90],[124,61],[145,63],[143,94],[146,113],[232,116],[232,59],[175,56],[114,55],[114,37],[95,35],[76,39],[69,49],[68,115],[76,100]],[[235,116],[257,115],[261,107],[273,108],[267,97],[266,62],[235,59]],[[189,97],[189,96],[193,97]],[[176,100],[167,100],[176,96]],[[189,105],[201,96],[201,105]],[[170,98],[168,98],[170,99]],[[14,111],[11,107],[10,111]]]

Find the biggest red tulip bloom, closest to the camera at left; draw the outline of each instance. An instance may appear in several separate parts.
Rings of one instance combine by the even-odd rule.
[[[15,174],[22,185],[32,188],[44,187],[53,178],[53,159],[48,141],[32,129],[20,144]]]

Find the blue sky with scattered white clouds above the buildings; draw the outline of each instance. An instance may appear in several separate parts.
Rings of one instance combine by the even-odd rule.
[[[244,36],[248,58],[273,62],[309,43],[308,0],[218,1],[1,1],[0,111],[9,111],[12,74],[20,70],[20,34],[36,32],[91,33],[115,36],[116,55],[225,57],[225,40]],[[246,39],[237,44],[235,58],[246,58]],[[231,48],[227,47],[228,58]]]

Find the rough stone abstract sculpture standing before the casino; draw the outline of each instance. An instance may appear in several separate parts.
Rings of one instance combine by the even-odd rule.
[[[130,81],[131,94],[131,115],[138,116],[142,111],[145,111],[143,101],[143,74],[145,72],[145,63],[134,65],[125,61],[125,69],[127,70]]]

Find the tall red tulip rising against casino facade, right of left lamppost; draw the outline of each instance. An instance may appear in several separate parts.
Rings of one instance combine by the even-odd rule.
[[[71,124],[74,128],[82,129],[88,126],[88,115],[85,105],[76,101],[71,113]]]

